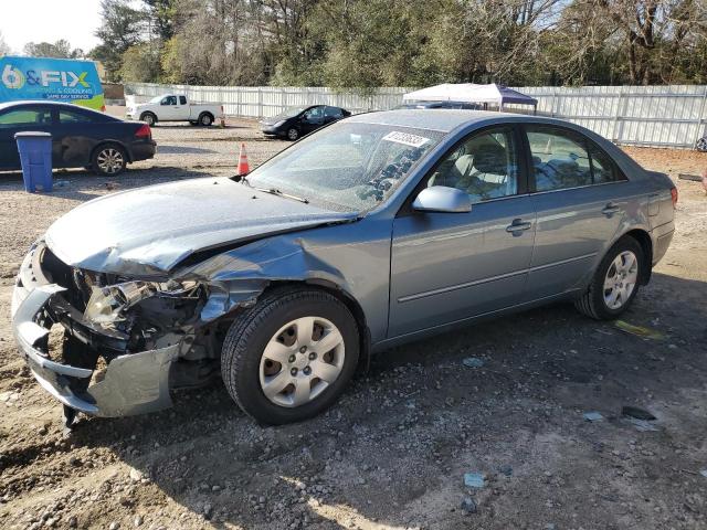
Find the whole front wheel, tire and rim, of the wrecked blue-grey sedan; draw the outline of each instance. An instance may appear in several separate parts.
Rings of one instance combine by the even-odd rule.
[[[309,328],[314,333],[305,346],[297,337],[297,322],[309,319],[315,322]],[[307,326],[302,329],[306,337]],[[318,335],[319,329],[326,335]],[[312,339],[317,335],[324,339],[330,336],[327,343],[337,346],[316,351],[317,341]],[[274,353],[266,353],[266,348]],[[271,360],[274,358],[282,362]],[[340,300],[310,288],[281,289],[263,297],[231,325],[223,342],[221,374],[229,394],[247,415],[263,424],[282,425],[329,407],[354,377],[358,358],[358,327]],[[330,381],[318,379],[318,374]],[[270,396],[265,392],[268,386]],[[302,389],[300,395],[297,389]]]

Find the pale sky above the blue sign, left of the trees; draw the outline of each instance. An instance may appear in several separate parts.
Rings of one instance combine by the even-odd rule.
[[[98,44],[99,9],[101,0],[0,0],[0,33],[13,53],[60,39],[88,52]]]

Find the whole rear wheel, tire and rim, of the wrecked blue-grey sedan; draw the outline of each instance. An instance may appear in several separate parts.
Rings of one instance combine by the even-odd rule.
[[[629,267],[631,255],[635,259],[635,267]],[[611,320],[619,317],[631,306],[639,292],[644,264],[641,244],[630,235],[622,237],[604,255],[589,288],[574,301],[574,307],[597,320]],[[622,266],[629,269],[621,271]],[[624,276],[622,277],[621,274]],[[629,288],[632,282],[632,287]],[[615,294],[619,296],[612,301]]]

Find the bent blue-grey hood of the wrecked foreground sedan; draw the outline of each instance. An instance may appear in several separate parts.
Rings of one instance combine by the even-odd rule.
[[[86,202],[55,221],[45,242],[74,267],[163,275],[198,251],[356,216],[260,192],[228,178],[203,178]]]

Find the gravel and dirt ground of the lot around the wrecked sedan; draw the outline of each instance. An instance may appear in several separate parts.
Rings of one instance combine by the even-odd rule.
[[[230,125],[158,126],[154,161],[112,181],[59,174],[50,195],[0,176],[0,528],[707,528],[707,198],[694,182],[676,180],[677,235],[625,317],[663,338],[559,305],[378,356],[307,423],[260,427],[215,384],[158,414],[82,417],[64,437],[10,331],[23,254],[82,201],[232,173],[241,139],[254,163],[285,145]],[[673,178],[707,167],[694,152],[629,151]],[[463,365],[469,356],[484,365]],[[655,430],[624,405],[655,414]],[[465,473],[484,487],[465,487]]]

